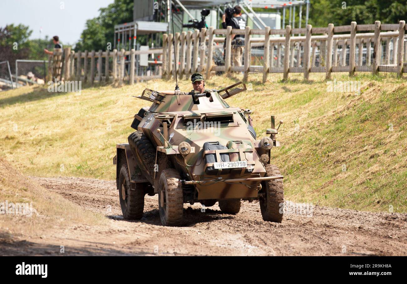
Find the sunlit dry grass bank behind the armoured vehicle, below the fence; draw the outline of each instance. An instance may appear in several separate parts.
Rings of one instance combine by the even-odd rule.
[[[228,99],[251,108],[258,137],[270,115],[283,119],[273,163],[284,174],[286,196],[295,201],[372,211],[407,209],[407,84],[392,74],[337,80],[361,81],[361,95],[326,91],[324,74],[251,74],[253,90]],[[212,89],[242,76],[214,76]],[[180,89],[190,90],[181,80]],[[127,141],[134,113],[147,102],[131,97],[145,87],[173,89],[168,80],[134,86],[87,87],[81,95],[24,87],[0,93],[0,156],[34,176],[81,176],[112,180],[116,143]],[[147,103],[148,104],[148,103]],[[389,131],[389,124],[393,131]],[[346,165],[346,171],[342,171]]]

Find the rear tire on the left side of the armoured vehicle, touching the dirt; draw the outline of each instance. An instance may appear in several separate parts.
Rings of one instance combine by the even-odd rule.
[[[120,168],[117,189],[119,191],[120,207],[122,208],[124,219],[138,220],[143,216],[144,186],[142,183],[137,183],[136,189],[131,189],[127,165],[123,165]],[[123,199],[123,192],[125,193],[125,199]]]

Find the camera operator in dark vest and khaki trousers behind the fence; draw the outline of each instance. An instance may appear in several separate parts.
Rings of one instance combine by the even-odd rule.
[[[242,19],[242,9],[240,6],[233,8],[233,17],[230,21],[232,29],[245,30],[246,22]],[[243,46],[245,46],[245,35],[232,34],[232,65],[242,66]]]

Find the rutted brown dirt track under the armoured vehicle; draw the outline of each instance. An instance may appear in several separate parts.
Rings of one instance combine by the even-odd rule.
[[[237,215],[222,214],[217,204],[205,212],[184,204],[184,226],[170,228],[160,223],[157,195],[146,195],[142,220],[126,221],[114,181],[32,179],[106,215],[108,225],[68,226],[10,244],[5,254],[59,255],[64,245],[64,255],[407,255],[407,214],[315,206],[312,217],[284,215],[271,223],[254,202],[243,202]]]

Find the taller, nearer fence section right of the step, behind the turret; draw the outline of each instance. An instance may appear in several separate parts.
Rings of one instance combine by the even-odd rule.
[[[203,28],[201,32],[175,33],[175,36],[164,34],[163,75],[174,76],[177,63],[177,75],[180,77],[195,72],[205,72],[206,76],[210,76],[211,72],[243,72],[244,81],[249,72],[263,73],[263,82],[269,73],[283,73],[284,79],[289,73],[304,73],[304,78],[308,79],[311,72],[324,72],[327,79],[332,72],[349,72],[350,75],[354,72],[394,72],[401,76],[407,72],[406,28],[405,21],[398,24],[376,21],[375,24],[363,25],[352,22],[349,26],[329,24],[326,28],[286,26],[280,30],[269,27],[262,30],[210,27],[208,30]],[[369,31],[372,32],[366,33]],[[250,38],[245,41],[242,66],[232,65],[232,35]],[[263,37],[250,37],[252,35]],[[225,44],[221,48],[225,57],[221,64],[214,61],[219,43]],[[393,56],[390,56],[391,52]],[[252,64],[256,58],[260,64]]]

